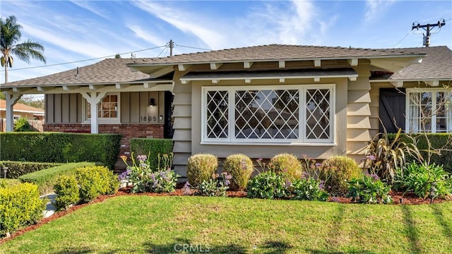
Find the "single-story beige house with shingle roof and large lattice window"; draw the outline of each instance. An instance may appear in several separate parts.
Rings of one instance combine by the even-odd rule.
[[[7,111],[21,94],[44,93],[46,131],[121,133],[123,151],[131,137],[172,137],[174,168],[185,176],[188,157],[200,152],[360,160],[379,116],[384,126],[420,131],[420,109],[452,102],[451,66],[447,47],[270,44],[105,59],[1,90]],[[429,123],[429,131],[452,132],[452,110]]]

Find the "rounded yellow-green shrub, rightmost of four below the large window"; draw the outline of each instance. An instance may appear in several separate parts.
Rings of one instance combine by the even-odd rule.
[[[325,181],[330,193],[339,195],[347,193],[347,181],[358,178],[361,174],[362,169],[358,167],[355,159],[349,157],[334,156],[321,164],[320,178]]]

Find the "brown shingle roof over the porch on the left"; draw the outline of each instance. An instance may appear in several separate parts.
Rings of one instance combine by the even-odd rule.
[[[131,71],[126,63],[141,59],[105,59],[89,66],[83,66],[69,71],[45,75],[38,78],[30,78],[4,84],[2,86],[27,86],[27,85],[87,85],[99,83],[127,83],[149,78],[148,74],[140,71]]]

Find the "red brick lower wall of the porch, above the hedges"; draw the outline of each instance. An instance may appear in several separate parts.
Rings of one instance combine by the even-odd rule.
[[[90,133],[90,124],[60,123],[44,124],[44,131],[66,133]],[[121,134],[121,150],[119,155],[130,152],[130,138],[163,138],[163,124],[99,124],[99,133]]]

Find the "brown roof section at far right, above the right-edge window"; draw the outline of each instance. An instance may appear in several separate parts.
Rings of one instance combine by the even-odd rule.
[[[407,52],[423,52],[427,56],[422,63],[405,67],[391,76],[393,80],[452,80],[452,50],[446,46],[404,49]]]

